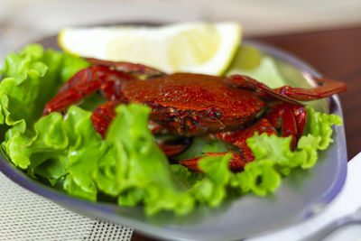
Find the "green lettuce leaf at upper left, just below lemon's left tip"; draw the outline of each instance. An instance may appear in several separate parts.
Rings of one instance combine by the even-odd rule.
[[[22,133],[42,115],[45,103],[71,74],[88,66],[79,58],[32,44],[10,53],[0,74],[0,124]]]

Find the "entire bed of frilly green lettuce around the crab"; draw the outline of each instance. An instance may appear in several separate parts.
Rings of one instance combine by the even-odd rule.
[[[54,189],[90,201],[106,196],[121,206],[143,205],[147,215],[162,210],[185,215],[197,205],[216,207],[246,193],[267,195],[292,171],[312,168],[318,151],[332,143],[331,126],[342,124],[339,116],[307,107],[305,129],[295,150],[290,148],[291,136],[256,133],[246,140],[255,161],[243,171],[229,170],[232,155],[225,154],[200,159],[201,172],[194,172],[169,162],[154,142],[148,128],[150,107],[116,107],[105,138],[90,119],[92,109],[104,101],[97,94],[69,107],[66,115],[42,116],[60,86],[88,66],[85,59],[37,44],[10,53],[0,71],[2,152],[8,162]],[[225,150],[220,142],[194,137],[179,158]]]

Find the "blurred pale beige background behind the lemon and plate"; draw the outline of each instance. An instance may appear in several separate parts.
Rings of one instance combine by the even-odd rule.
[[[0,57],[65,26],[234,20],[245,36],[361,24],[360,0],[0,0]]]

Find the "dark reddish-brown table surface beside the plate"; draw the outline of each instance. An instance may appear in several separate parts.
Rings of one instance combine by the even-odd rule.
[[[310,63],[329,79],[347,83],[347,92],[339,94],[344,113],[348,160],[361,151],[361,26],[319,32],[253,38],[288,51]],[[358,103],[358,104],[357,104]],[[156,240],[135,232],[133,241]]]

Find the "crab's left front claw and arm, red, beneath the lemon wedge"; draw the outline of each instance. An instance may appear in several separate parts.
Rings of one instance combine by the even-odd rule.
[[[87,60],[96,66],[80,70],[64,83],[60,87],[58,95],[46,104],[42,116],[46,116],[53,111],[63,111],[70,105],[79,103],[84,97],[93,94],[98,89],[103,90],[109,100],[122,99],[121,93],[119,93],[122,81],[166,75],[160,70],[142,64],[91,58]]]

